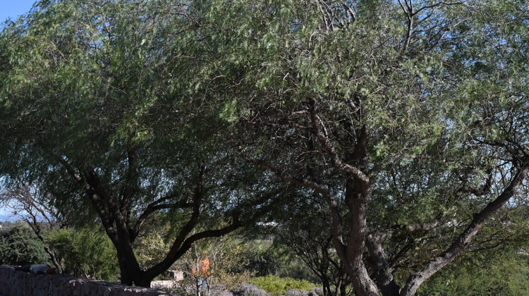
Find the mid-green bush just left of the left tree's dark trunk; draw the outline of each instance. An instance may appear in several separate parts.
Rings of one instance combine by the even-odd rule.
[[[115,281],[118,277],[116,251],[109,238],[97,228],[51,230],[47,243],[63,260],[68,273]]]

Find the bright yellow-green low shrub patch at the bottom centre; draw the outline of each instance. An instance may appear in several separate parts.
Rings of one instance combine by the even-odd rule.
[[[257,278],[250,278],[248,283],[256,285],[274,296],[286,295],[288,290],[306,290],[311,291],[315,285],[306,280],[296,280],[293,278],[279,278],[278,276],[260,276]]]

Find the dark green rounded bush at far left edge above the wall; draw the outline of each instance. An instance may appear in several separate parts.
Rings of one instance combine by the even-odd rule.
[[[23,223],[0,228],[0,265],[47,264],[49,256],[35,233]]]

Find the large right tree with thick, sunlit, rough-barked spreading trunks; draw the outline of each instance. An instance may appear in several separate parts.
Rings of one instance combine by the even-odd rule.
[[[357,295],[415,294],[525,203],[525,1],[216,4],[202,73],[233,142],[326,202]]]

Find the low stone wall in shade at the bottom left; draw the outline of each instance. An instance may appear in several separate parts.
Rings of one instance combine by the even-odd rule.
[[[154,296],[173,295],[61,274],[35,274],[0,266],[0,295],[5,296]]]

